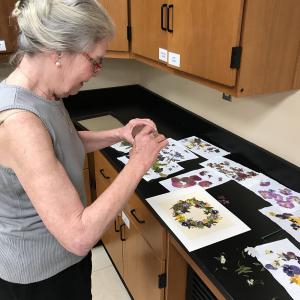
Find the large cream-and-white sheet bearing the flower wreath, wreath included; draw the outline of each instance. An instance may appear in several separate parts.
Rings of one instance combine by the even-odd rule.
[[[199,186],[146,200],[188,251],[250,230],[245,223]]]

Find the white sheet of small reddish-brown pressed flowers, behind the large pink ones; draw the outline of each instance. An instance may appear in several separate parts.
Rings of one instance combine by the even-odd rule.
[[[212,168],[247,188],[258,183],[259,173],[221,156],[214,157],[200,165]]]

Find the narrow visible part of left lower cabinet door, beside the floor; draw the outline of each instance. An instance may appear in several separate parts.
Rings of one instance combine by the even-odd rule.
[[[120,235],[120,217],[107,227],[102,236],[102,243],[107,250],[110,258],[113,260],[115,267],[118,269],[121,276],[123,276],[123,250]]]

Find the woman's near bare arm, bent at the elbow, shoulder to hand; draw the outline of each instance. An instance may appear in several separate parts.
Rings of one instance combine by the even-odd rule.
[[[55,157],[51,138],[36,116],[24,112],[10,117],[4,123],[1,139],[8,166],[15,171],[45,226],[67,250],[85,255],[167,144],[163,136],[153,138],[151,132],[152,128],[146,126],[136,136],[129,163],[87,208]]]

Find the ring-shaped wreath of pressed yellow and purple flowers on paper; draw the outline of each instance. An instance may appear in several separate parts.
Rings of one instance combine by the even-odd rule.
[[[195,207],[203,210],[206,215],[205,219],[194,220],[192,218],[186,218],[184,214],[190,212],[190,208]],[[173,210],[173,217],[182,226],[190,228],[210,228],[212,225],[216,225],[222,217],[218,210],[215,210],[209,203],[197,200],[195,197],[186,200],[179,200],[174,204],[171,209]]]

